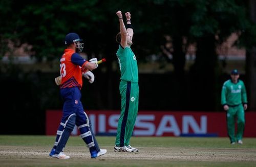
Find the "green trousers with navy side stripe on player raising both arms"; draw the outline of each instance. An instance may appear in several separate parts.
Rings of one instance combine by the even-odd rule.
[[[121,113],[118,120],[115,145],[119,147],[130,145],[139,107],[138,82],[121,81]]]

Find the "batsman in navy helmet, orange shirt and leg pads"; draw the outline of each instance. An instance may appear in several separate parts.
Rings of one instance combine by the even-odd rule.
[[[91,131],[90,120],[80,101],[80,89],[82,88],[82,71],[86,72],[97,68],[97,59],[87,61],[79,55],[83,49],[83,43],[76,33],[67,34],[65,44],[67,49],[64,50],[60,58],[61,80],[59,85],[60,95],[64,101],[63,113],[55,144],[49,155],[58,159],[70,158],[63,153],[63,149],[76,125],[80,130],[81,138],[90,150],[91,158],[96,158],[104,155],[106,150],[99,148],[94,133]]]

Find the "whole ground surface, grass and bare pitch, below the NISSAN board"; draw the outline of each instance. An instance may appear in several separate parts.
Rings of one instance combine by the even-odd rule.
[[[71,136],[68,160],[48,156],[55,136],[0,135],[0,166],[256,166],[256,138],[230,145],[227,137],[132,137],[138,153],[115,153],[115,137],[96,137],[108,153],[91,159],[78,136]]]

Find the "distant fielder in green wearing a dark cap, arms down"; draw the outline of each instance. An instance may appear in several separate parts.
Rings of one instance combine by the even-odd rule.
[[[242,145],[245,126],[244,111],[247,109],[247,96],[244,82],[239,80],[237,69],[231,71],[231,79],[224,82],[221,91],[221,104],[227,111],[227,131],[230,144]],[[235,121],[237,118],[237,133],[235,132]]]

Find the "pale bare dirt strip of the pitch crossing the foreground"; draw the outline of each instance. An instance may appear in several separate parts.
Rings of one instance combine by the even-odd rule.
[[[0,146],[0,160],[52,159],[51,148]],[[252,161],[256,162],[256,149],[228,148],[138,148],[137,153],[115,153],[113,148],[99,159],[188,160],[188,161]],[[69,147],[65,153],[72,159],[91,159],[88,148]]]

